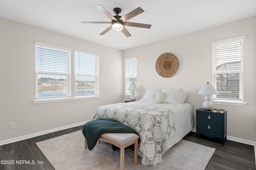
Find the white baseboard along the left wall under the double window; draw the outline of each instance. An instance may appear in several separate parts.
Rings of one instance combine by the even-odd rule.
[[[29,138],[32,138],[32,137],[37,137],[37,136],[40,136],[40,135],[45,135],[47,133],[52,133],[52,132],[61,131],[61,130],[64,130],[64,129],[84,125],[84,123],[86,123],[86,122],[88,122],[88,121],[81,122],[81,123],[76,123],[76,124],[73,124],[73,125],[58,127],[58,128],[55,128],[55,129],[50,129],[50,130],[42,131],[42,132],[38,132],[38,133],[32,133],[32,134],[24,135],[24,136],[21,136],[21,137],[15,137],[15,138],[12,138],[12,139],[7,139],[7,140],[4,140],[4,141],[0,141],[0,146],[1,145],[6,145],[8,143],[22,141],[22,140],[29,139]]]

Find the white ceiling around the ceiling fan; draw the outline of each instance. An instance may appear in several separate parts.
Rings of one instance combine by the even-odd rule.
[[[145,12],[128,21],[152,26],[126,27],[131,37],[114,30],[99,35],[110,24],[80,23],[111,21],[94,4],[113,16],[116,7],[120,16],[141,7]],[[252,16],[256,0],[0,0],[1,18],[122,50]]]

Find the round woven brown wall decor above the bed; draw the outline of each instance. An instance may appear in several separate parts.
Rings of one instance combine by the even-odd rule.
[[[179,61],[172,53],[164,53],[156,61],[156,71],[162,77],[173,76],[179,68]]]

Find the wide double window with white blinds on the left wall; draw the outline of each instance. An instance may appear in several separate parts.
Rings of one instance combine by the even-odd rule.
[[[99,55],[36,42],[35,48],[34,103],[100,97]]]

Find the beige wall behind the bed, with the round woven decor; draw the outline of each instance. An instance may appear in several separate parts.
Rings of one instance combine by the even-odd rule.
[[[148,88],[182,86],[189,93],[186,102],[192,104],[195,119],[195,110],[202,107],[204,102],[204,95],[198,94],[198,91],[204,83],[212,82],[211,42],[241,35],[246,36],[244,102],[247,104],[244,107],[214,104],[214,107],[228,111],[229,137],[256,141],[256,16],[124,51],[124,58],[137,57],[137,100],[143,97]],[[179,60],[178,71],[170,78],[159,76],[155,69],[156,60],[163,53],[172,53]],[[128,97],[124,97],[124,100],[128,100]]]

